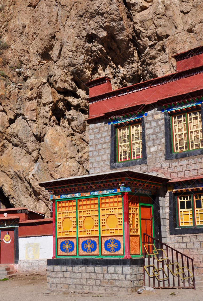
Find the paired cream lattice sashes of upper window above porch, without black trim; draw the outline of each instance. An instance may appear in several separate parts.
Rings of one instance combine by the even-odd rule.
[[[117,129],[118,161],[128,161],[142,158],[142,125],[122,126]]]

